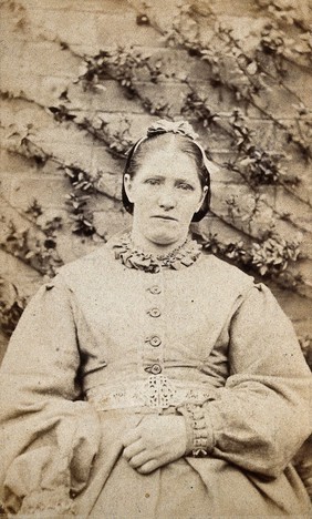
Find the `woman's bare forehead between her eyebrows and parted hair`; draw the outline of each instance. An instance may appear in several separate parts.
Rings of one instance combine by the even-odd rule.
[[[149,151],[139,161],[136,175],[157,174],[198,179],[195,159],[181,151]]]

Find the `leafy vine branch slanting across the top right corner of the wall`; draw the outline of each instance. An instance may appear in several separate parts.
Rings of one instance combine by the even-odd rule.
[[[209,17],[211,17],[209,11]],[[271,52],[279,55],[280,63],[285,58],[282,52],[273,52],[275,34],[272,34],[272,26],[266,26],[258,47],[253,52],[247,53],[241,48],[240,42],[233,37],[233,30],[220,23],[212,16],[216,23],[214,37],[210,41],[202,42],[200,35],[200,24],[198,22],[197,11],[191,3],[186,3],[179,11],[173,23],[171,31],[167,34],[169,41],[186,49],[188,53],[204,63],[209,65],[210,84],[215,88],[226,88],[233,93],[237,102],[243,101],[247,105],[253,106],[266,119],[271,120],[278,129],[285,133],[288,142],[294,143],[306,161],[311,160],[311,111],[304,105],[303,101],[298,96],[295,91],[291,91],[285,86],[283,77],[287,75],[287,69],[282,69],[282,64],[275,67],[277,75],[273,75],[270,67],[264,65],[263,53],[269,53],[269,44],[272,44]],[[191,29],[186,32],[185,27]],[[302,34],[301,34],[302,37]],[[304,38],[306,34],[304,34]],[[279,38],[281,44],[288,48],[289,41],[284,32],[280,31]],[[264,39],[264,40],[263,40]],[[264,41],[267,42],[264,45]],[[301,38],[300,38],[301,41]],[[292,41],[292,43],[294,43]],[[263,47],[264,45],[264,47]],[[294,48],[299,48],[294,45]],[[302,52],[304,52],[304,44]],[[310,55],[311,50],[306,52]],[[299,64],[295,58],[293,61]],[[277,61],[274,61],[277,64]],[[269,109],[260,102],[260,95],[272,88],[284,89],[293,96],[293,101],[300,102],[298,106],[299,119],[303,113],[308,116],[302,118],[303,125],[285,123],[277,118]]]

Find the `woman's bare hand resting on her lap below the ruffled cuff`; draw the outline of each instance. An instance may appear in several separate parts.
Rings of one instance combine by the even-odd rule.
[[[185,455],[185,419],[183,416],[147,416],[124,435],[123,445],[123,456],[131,467],[141,474],[153,472]]]

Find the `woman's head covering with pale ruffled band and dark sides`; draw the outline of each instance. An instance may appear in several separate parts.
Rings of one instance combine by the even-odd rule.
[[[208,186],[208,192],[205,196],[205,200],[202,202],[202,205],[200,210],[194,214],[193,216],[193,222],[199,222],[208,212],[209,210],[209,204],[210,204],[210,162],[208,161],[205,150],[199,144],[197,141],[198,134],[195,133],[194,129],[187,121],[167,121],[165,119],[159,119],[155,123],[150,124],[150,126],[147,128],[146,134],[143,135],[136,143],[128,150],[127,152],[127,161],[124,170],[124,175],[128,173],[132,159],[139,149],[139,146],[146,142],[149,141],[157,135],[162,135],[164,133],[175,133],[177,135],[181,135],[186,139],[189,139],[200,151],[201,157],[202,157],[202,165],[204,165],[204,171],[205,171],[205,185]],[[127,194],[125,192],[124,187],[124,182],[123,182],[123,190],[122,190],[122,199],[123,199],[123,204],[124,207],[128,213],[133,213],[133,204],[129,202]]]

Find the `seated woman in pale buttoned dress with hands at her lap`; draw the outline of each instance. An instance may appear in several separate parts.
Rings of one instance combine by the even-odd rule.
[[[208,211],[187,123],[131,150],[131,233],[61,268],[2,368],[2,500],[19,515],[309,515],[290,465],[310,372],[263,285],[188,237]]]

